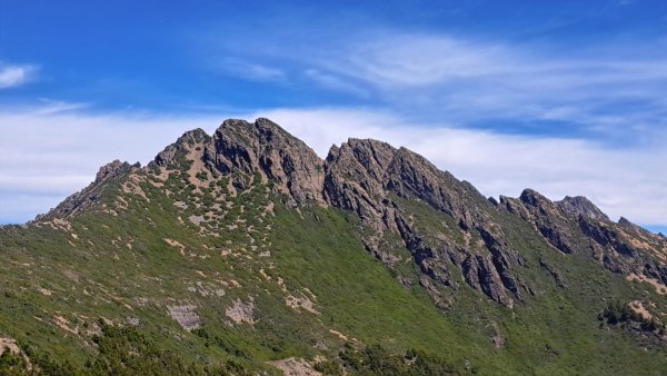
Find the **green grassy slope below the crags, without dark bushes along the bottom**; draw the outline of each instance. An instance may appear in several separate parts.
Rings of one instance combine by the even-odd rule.
[[[402,287],[364,250],[354,217],[335,209],[299,212],[272,197],[275,216],[259,221],[257,207],[269,197],[257,187],[232,199],[228,215],[218,219],[219,237],[202,237],[199,227],[177,218],[203,211],[191,206],[182,212],[173,206],[176,200],[192,197],[192,191],[178,179],[170,184],[181,189],[172,197],[147,185],[150,201],[126,195],[129,208],[118,217],[93,210],[77,217],[71,231],[0,229],[0,336],[82,364],[94,353],[91,335],[66,332],[56,325],[56,316],[80,332],[93,330],[100,317],[115,323],[130,317],[139,319],[140,332],[187,360],[235,359],[257,369],[270,369],[263,362],[289,356],[335,356],[345,342],[331,330],[396,352],[422,348],[459,369],[467,364],[481,374],[658,374],[667,369],[664,347],[644,352],[635,337],[600,329],[596,319],[609,297],[630,300],[651,293],[605,271],[588,255],[558,254],[512,216],[496,215],[511,224],[507,230],[511,246],[529,266],[518,273],[537,295],[525,294],[526,304],[518,304],[512,313],[461,283],[457,304],[442,313],[421,288]],[[106,202],[111,205],[119,192],[118,184],[108,187]],[[215,199],[207,192],[199,196],[201,201]],[[415,214],[419,228],[432,231],[441,229],[442,222],[452,224],[424,204],[402,204]],[[246,222],[238,222],[239,218]],[[239,228],[229,230],[226,226],[231,224]],[[257,238],[251,243],[248,226],[266,232],[267,239],[261,243],[251,234]],[[448,236],[457,239],[454,226],[449,227]],[[186,255],[165,238],[182,244]],[[259,247],[251,249],[251,244]],[[238,256],[221,256],[226,248]],[[260,257],[267,250],[270,256]],[[567,290],[539,268],[540,257],[558,267]],[[276,283],[278,277],[286,290]],[[40,288],[51,294],[43,295]],[[210,293],[217,289],[225,295]],[[310,293],[319,314],[296,311],[285,304],[288,294]],[[253,327],[228,324],[226,309],[236,299],[253,301]],[[196,305],[209,339],[183,330],[171,319],[167,307],[173,305]],[[507,338],[506,346],[494,348],[489,338],[495,334]],[[653,345],[647,342],[646,346]]]

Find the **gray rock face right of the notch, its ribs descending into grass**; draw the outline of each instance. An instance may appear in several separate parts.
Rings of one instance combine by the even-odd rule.
[[[486,214],[492,205],[469,184],[438,170],[410,150],[376,140],[350,139],[340,148],[332,147],[325,171],[327,201],[356,212],[371,229],[364,239],[368,250],[391,265],[391,257],[381,249],[382,238],[399,235],[422,274],[420,284],[437,304],[447,305],[439,286],[456,287],[455,274],[465,274],[468,285],[502,305],[511,306],[511,296],[520,296],[511,273],[518,257],[507,246],[500,227],[494,226]],[[395,196],[425,201],[451,216],[460,227],[456,230],[472,231],[482,238],[484,255],[474,255],[446,239],[436,245],[425,241],[392,199]]]

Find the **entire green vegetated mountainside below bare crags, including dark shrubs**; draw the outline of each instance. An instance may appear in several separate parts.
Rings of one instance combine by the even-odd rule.
[[[516,216],[487,212],[508,224],[508,247],[521,257],[512,271],[526,287],[514,308],[446,264],[452,286],[439,287],[449,299],[439,309],[397,236],[381,240],[401,260],[387,267],[366,251],[368,229],[356,216],[291,208],[258,175],[212,176],[198,187],[192,178],[211,176],[190,177],[179,152],[166,181],[139,174],[143,195],[118,180],[66,225],[0,228],[0,338],[23,352],[6,352],[0,375],[27,374],[23,355],[49,375],[279,374],[270,362],[290,357],[328,375],[650,375],[667,367],[663,343],[621,328],[659,334],[661,324],[627,304],[607,305],[641,298],[666,311],[665,298],[589,255],[555,251]],[[481,241],[422,201],[391,199],[429,245],[446,238],[475,251]],[[177,318],[195,324],[186,329]]]

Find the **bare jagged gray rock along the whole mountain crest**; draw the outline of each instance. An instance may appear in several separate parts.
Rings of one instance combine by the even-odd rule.
[[[68,216],[92,205],[99,187],[135,167],[118,160],[102,167],[96,184],[66,200],[57,211]],[[147,171],[162,181],[166,176],[185,179],[195,190],[223,187],[232,196],[259,184],[283,194],[288,206],[316,204],[352,211],[366,228],[362,240],[367,250],[394,267],[400,258],[392,249],[407,249],[420,270],[419,284],[441,307],[451,300],[444,288],[457,285],[455,269],[468,285],[507,307],[522,299],[521,291],[532,294],[516,274],[522,258],[492,211],[505,208],[532,224],[564,254],[578,251],[581,237],[591,239],[595,257],[604,258],[617,273],[641,273],[640,263],[649,265],[638,258],[635,261],[641,251],[623,240],[627,231],[635,229],[631,232],[645,237],[647,244],[658,244],[659,239],[636,230],[625,218],[618,225],[608,221],[599,208],[580,196],[551,201],[525,189],[519,198],[501,196],[499,204],[491,205],[470,184],[439,170],[422,156],[378,140],[350,138],[340,147],[332,146],[321,160],[305,142],[265,118],[255,122],[226,120],[212,136],[202,129],[187,131],[160,152]],[[220,185],[223,178],[227,182]],[[123,186],[123,191],[140,192],[137,182],[142,179],[130,175],[133,182]],[[415,202],[451,217],[454,221],[439,231],[458,234],[462,240],[425,234],[416,225],[411,208],[422,204]],[[658,265],[651,266],[654,269],[661,270]]]

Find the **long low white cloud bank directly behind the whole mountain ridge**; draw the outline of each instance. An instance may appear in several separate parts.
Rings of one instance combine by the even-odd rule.
[[[445,122],[414,123],[375,109],[272,109],[220,116],[92,115],[0,110],[0,221],[27,220],[93,180],[113,159],[146,164],[182,132],[212,132],[228,117],[273,119],[325,157],[348,137],[408,147],[484,195],[535,188],[552,199],[584,195],[613,217],[667,224],[667,137],[648,148],[508,136]]]

